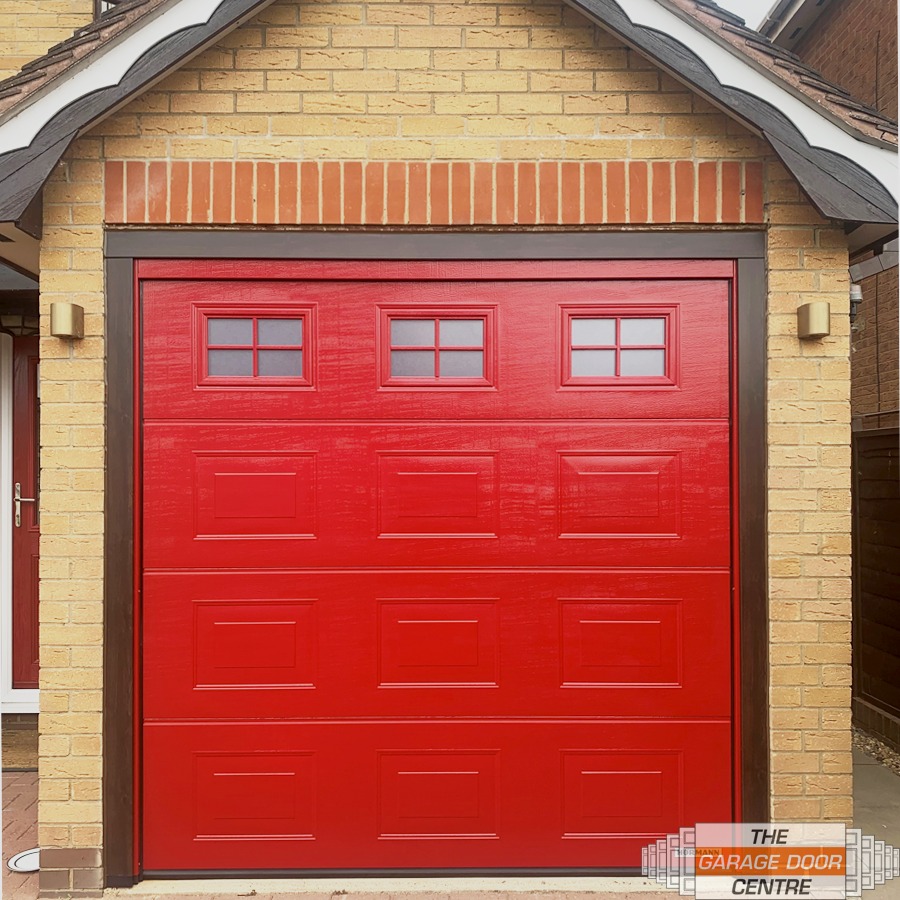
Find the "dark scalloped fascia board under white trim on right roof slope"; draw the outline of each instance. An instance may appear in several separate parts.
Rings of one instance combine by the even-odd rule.
[[[703,60],[679,41],[647,26],[635,25],[615,0],[565,2],[769,141],[826,218],[871,223],[897,221],[897,201],[866,169],[837,153],[810,146],[780,110],[752,94],[723,85]]]

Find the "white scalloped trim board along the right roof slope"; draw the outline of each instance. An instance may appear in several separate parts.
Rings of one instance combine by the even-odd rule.
[[[659,0],[615,0],[615,3],[633,25],[652,28],[683,44],[703,60],[720,84],[753,94],[780,110],[811,147],[831,150],[852,160],[880,181],[895,200],[900,200],[896,150],[855,138]]]

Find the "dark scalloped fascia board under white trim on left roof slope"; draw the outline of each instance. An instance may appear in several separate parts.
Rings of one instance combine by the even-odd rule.
[[[0,156],[0,222],[22,218],[75,138],[272,2],[224,0],[209,21],[175,32],[149,48],[118,84],[64,107],[28,147]]]

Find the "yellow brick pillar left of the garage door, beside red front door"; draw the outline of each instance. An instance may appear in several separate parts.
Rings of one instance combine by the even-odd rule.
[[[41,248],[40,842],[99,847],[105,366],[100,145],[79,142],[45,197]],[[93,158],[92,158],[93,157]],[[47,337],[49,304],[85,338]]]

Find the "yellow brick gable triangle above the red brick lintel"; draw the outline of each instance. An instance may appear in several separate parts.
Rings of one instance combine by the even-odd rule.
[[[121,159],[765,153],[559,0],[282,0],[94,134]]]

